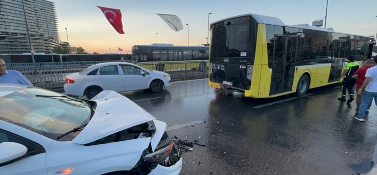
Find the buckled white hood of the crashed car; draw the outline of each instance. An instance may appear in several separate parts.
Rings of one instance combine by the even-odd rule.
[[[102,91],[92,101],[97,108],[88,125],[72,141],[87,144],[121,130],[155,118],[130,99],[114,92]]]

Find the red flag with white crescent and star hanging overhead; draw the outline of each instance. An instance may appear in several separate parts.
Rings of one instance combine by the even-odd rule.
[[[110,9],[105,7],[99,7],[102,13],[105,15],[107,21],[111,24],[112,27],[116,30],[116,32],[120,34],[124,34],[123,32],[123,25],[122,25],[122,14],[120,13],[119,9]]]

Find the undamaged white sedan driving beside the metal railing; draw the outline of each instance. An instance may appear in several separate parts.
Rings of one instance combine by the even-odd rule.
[[[68,74],[64,91],[91,99],[104,90],[124,92],[150,89],[160,92],[170,84],[170,75],[167,73],[148,70],[132,63],[106,62]]]

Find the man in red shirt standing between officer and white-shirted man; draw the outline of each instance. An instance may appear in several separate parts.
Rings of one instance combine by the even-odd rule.
[[[367,59],[365,61],[365,66],[364,67],[361,67],[359,69],[356,70],[356,72],[353,74],[353,77],[354,78],[357,78],[357,82],[356,82],[356,92],[359,91],[362,83],[364,82],[365,80],[365,73],[366,73],[366,69],[370,68],[370,67],[373,67],[374,66],[374,61],[373,59]],[[357,94],[357,98],[356,98],[356,111],[358,112],[359,111],[359,107],[360,107],[360,104],[361,104],[361,98],[362,98],[362,94],[361,93],[360,95]],[[370,103],[368,108],[366,109],[366,111],[369,111],[369,108],[372,104]]]

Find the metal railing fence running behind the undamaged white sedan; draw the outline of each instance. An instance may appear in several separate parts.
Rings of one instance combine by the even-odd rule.
[[[45,89],[62,88],[66,76],[85,68],[108,61],[13,63],[7,64],[8,70],[17,70],[26,76],[34,86]],[[132,61],[124,61],[132,62]],[[208,76],[208,60],[187,62],[148,62],[137,65],[170,74],[172,79],[197,78]]]

